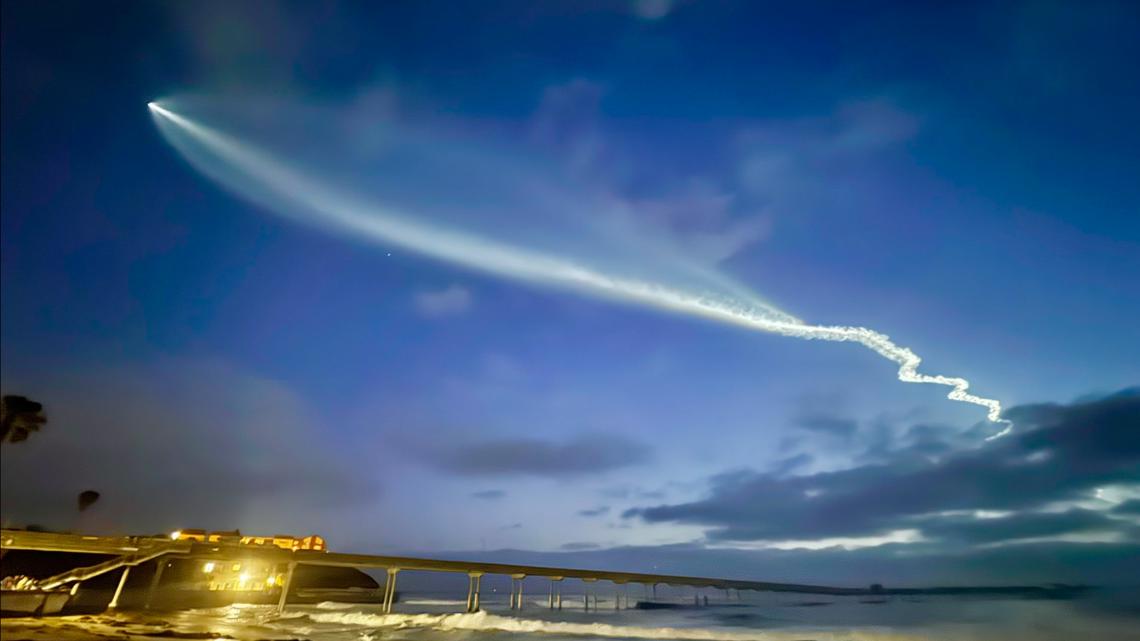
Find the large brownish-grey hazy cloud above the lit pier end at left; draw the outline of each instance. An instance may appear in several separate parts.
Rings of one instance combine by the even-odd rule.
[[[7,518],[135,533],[252,524],[300,533],[315,513],[367,503],[378,489],[366,462],[339,451],[292,390],[222,360],[19,384],[44,404],[49,423],[2,451]],[[75,495],[88,488],[103,497],[84,512],[95,521],[76,524]]]

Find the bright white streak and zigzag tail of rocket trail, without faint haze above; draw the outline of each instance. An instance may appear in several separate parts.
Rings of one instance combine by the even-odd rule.
[[[399,244],[500,276],[545,283],[784,336],[861,343],[896,363],[901,381],[946,386],[951,388],[947,398],[985,407],[987,419],[1003,425],[1001,431],[987,437],[987,440],[1005,436],[1012,428],[1012,423],[1001,419],[1000,401],[969,393],[970,384],[966,379],[919,373],[918,366],[922,359],[910,349],[891,342],[886,334],[865,327],[808,325],[758,297],[735,292],[732,295],[697,292],[686,287],[619,277],[581,266],[571,259],[432,226],[374,202],[365,202],[332,189],[250,145],[156,103],[148,106],[168,140],[198,170],[279,213],[308,222],[321,222],[373,241]],[[209,157],[203,159],[187,140],[174,136],[176,131],[188,135],[195,144],[209,149]]]

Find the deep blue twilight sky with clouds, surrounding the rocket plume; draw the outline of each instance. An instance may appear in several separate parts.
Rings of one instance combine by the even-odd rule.
[[[0,365],[49,415],[3,446],[6,526],[1134,582],[1140,8],[858,5],[3,2]],[[857,346],[275,216],[168,144],[169,96],[542,157],[780,309],[969,379],[1013,432]]]

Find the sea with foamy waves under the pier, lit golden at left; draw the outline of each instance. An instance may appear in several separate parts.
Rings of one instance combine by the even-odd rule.
[[[563,595],[551,610],[546,595],[511,610],[505,594],[489,594],[483,611],[458,614],[455,594],[404,594],[398,612],[380,606],[318,603],[229,606],[176,612],[122,612],[44,619],[6,619],[5,641],[99,639],[238,639],[243,641],[506,641],[518,639],[682,641],[1138,641],[1140,591],[1094,591],[1072,600],[994,597],[821,598],[746,593],[742,600],[709,597],[707,607],[677,600],[676,609],[613,608],[598,592],[598,608]],[[687,607],[679,607],[687,606]]]

